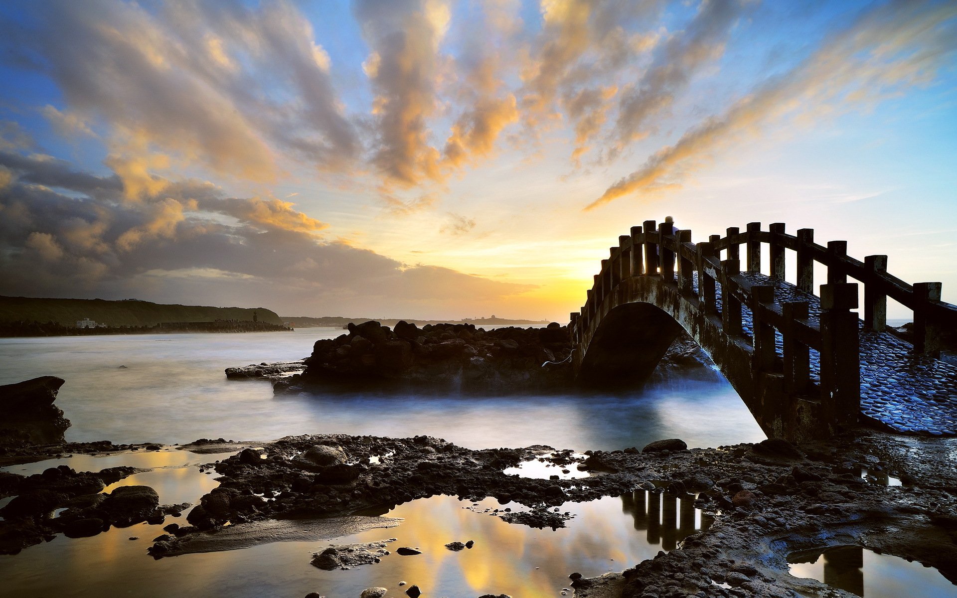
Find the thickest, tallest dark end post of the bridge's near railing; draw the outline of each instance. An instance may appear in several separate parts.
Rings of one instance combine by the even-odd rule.
[[[821,400],[826,420],[853,426],[860,411],[857,283],[821,285]]]

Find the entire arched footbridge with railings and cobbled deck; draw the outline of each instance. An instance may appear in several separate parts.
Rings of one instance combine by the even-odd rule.
[[[785,280],[788,250],[796,284]],[[819,296],[815,264],[827,269]],[[848,278],[863,285],[863,321]],[[913,310],[909,340],[886,325],[888,297]],[[751,223],[696,244],[646,221],[602,260],[571,326],[578,377],[597,385],[647,378],[687,331],[768,436],[829,435],[860,414],[898,432],[957,433],[957,366],[939,359],[957,343],[957,305],[939,282],[907,284],[887,274],[886,255],[858,261],[846,241],[814,243],[812,229]]]

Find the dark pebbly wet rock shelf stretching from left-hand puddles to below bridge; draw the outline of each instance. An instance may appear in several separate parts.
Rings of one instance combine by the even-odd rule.
[[[322,469],[302,456],[316,446],[345,454],[345,463],[318,467],[347,466],[356,476],[328,481]],[[713,514],[714,522],[677,549],[618,576],[576,579],[576,591],[645,598],[815,592],[824,586],[790,576],[787,555],[837,543],[915,559],[957,580],[957,520],[950,507],[957,497],[953,440],[858,430],[800,447],[783,441],[718,449],[673,446],[675,450],[653,453],[634,448],[590,452],[586,467],[594,475],[553,480],[502,473],[531,455],[540,457],[542,447],[474,451],[427,436],[287,437],[263,446],[262,464],[242,463],[238,455],[216,464],[223,476],[220,488],[203,498],[204,511],[190,516],[195,527],[168,545],[175,547],[200,529],[215,536],[227,521],[241,528],[244,520],[375,515],[396,503],[436,494],[498,498],[503,507],[494,515],[528,524],[517,514],[530,520],[564,517],[560,506],[566,501],[656,489],[665,496],[699,492],[696,506]],[[367,464],[370,456],[383,454],[389,456]],[[901,486],[869,482],[860,477],[865,467],[919,481]],[[275,498],[256,496],[263,491]],[[228,498],[213,498],[224,493]],[[602,594],[609,584],[620,591]]]

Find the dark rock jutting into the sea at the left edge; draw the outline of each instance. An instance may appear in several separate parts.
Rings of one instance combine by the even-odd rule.
[[[54,401],[64,382],[40,376],[0,386],[0,447],[63,442],[70,421]]]

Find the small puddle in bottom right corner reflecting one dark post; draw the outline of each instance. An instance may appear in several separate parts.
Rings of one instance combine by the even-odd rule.
[[[860,546],[803,550],[788,557],[790,574],[808,577],[866,598],[957,597],[957,586],[937,569]]]

